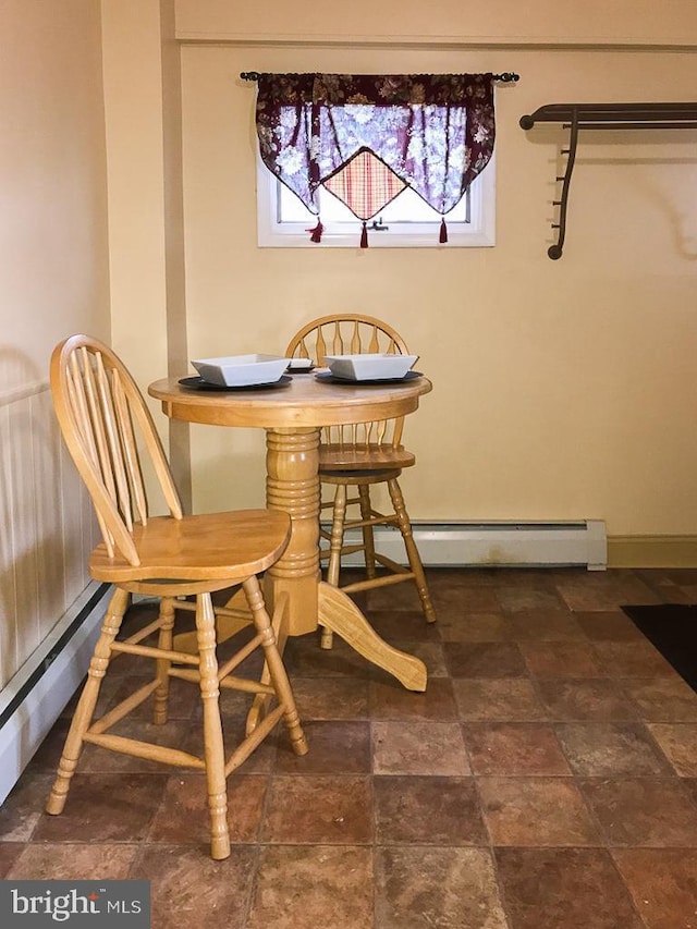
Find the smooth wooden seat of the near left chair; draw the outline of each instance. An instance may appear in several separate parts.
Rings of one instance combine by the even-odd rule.
[[[291,534],[288,513],[236,510],[175,519],[155,516],[133,529],[140,564],[118,552],[109,558],[105,543],[93,551],[89,572],[96,580],[243,580],[272,565]]]

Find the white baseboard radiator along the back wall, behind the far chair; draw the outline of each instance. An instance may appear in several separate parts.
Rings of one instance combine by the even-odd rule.
[[[589,571],[608,566],[608,538],[602,519],[561,523],[415,523],[414,538],[421,561],[431,567],[534,567],[583,565]],[[359,540],[358,529],[346,533],[346,543]],[[396,529],[375,530],[376,550],[406,564]],[[364,564],[363,553],[347,555],[347,565]]]

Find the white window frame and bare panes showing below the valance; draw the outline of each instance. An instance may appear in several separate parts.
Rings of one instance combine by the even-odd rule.
[[[445,248],[486,247],[496,244],[496,158],[479,174],[460,203],[445,215]],[[323,246],[357,248],[360,220],[340,199],[320,188]],[[367,224],[370,248],[439,247],[441,216],[405,190]],[[257,158],[257,228],[261,247],[316,248],[308,230],[317,223],[295,194],[271,174]],[[375,225],[378,229],[375,228]]]

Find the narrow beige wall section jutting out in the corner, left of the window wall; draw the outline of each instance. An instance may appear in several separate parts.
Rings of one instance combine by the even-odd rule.
[[[112,339],[143,380],[167,367],[160,9],[101,9]]]

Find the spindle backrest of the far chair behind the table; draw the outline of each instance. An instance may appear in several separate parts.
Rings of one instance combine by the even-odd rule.
[[[387,322],[359,313],[314,319],[295,333],[285,350],[289,358],[311,358],[320,366],[325,365],[327,355],[365,354],[408,355],[409,350],[400,333]],[[322,441],[327,444],[398,447],[403,429],[404,417],[331,426],[322,429]]]

